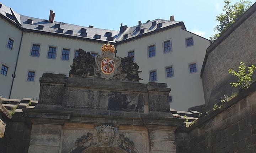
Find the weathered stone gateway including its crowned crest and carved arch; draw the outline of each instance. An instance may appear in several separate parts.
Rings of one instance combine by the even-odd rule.
[[[104,44],[93,57],[79,50],[70,78],[43,73],[39,102],[24,109],[32,127],[29,153],[176,153],[167,84],[138,83],[131,57]]]

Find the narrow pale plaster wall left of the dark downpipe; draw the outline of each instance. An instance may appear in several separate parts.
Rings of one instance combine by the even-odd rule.
[[[0,19],[0,27],[0,69],[2,64],[8,67],[6,76],[0,74],[0,96],[9,98],[22,31],[2,18]],[[14,40],[12,50],[7,48],[9,38]]]

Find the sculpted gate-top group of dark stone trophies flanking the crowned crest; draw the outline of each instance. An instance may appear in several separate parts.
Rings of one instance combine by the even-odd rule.
[[[105,80],[128,80],[139,82],[143,80],[139,78],[139,66],[133,63],[133,56],[121,58],[115,56],[115,48],[113,45],[104,44],[101,47],[101,54],[96,57],[90,52],[79,49],[79,56],[73,60],[70,66],[69,77],[80,76],[97,77]]]

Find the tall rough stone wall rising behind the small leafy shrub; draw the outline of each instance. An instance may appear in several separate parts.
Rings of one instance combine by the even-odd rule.
[[[237,70],[240,62],[256,64],[255,11],[256,4],[207,48],[201,71],[207,109],[234,91],[229,83],[236,79],[228,73],[230,68]]]

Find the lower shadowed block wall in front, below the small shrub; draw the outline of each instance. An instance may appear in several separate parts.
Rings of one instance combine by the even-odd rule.
[[[175,138],[177,153],[255,153],[256,84],[187,129],[177,130]]]

